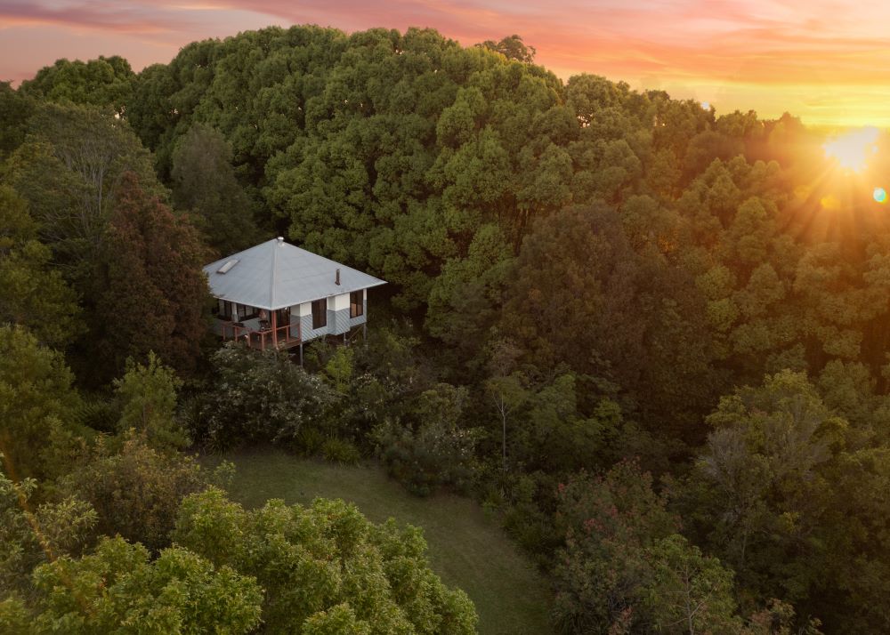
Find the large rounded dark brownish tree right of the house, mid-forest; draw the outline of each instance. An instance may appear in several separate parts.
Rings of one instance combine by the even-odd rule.
[[[663,254],[635,252],[619,214],[570,207],[536,223],[504,293],[500,329],[545,372],[565,364],[628,416],[696,440],[716,385],[704,302]]]

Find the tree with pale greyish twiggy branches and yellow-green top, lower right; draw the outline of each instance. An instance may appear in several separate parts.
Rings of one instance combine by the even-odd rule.
[[[789,371],[765,378],[761,389],[721,399],[708,422],[716,430],[708,436],[700,476],[724,508],[715,514],[722,520],[712,540],[748,582],[752,567],[781,567],[787,562],[782,543],[796,549],[795,535],[812,529],[806,523],[819,510],[817,468],[829,460],[831,439],[846,424],[831,416],[803,374]],[[790,518],[797,520],[789,524]],[[761,543],[765,534],[785,536]]]

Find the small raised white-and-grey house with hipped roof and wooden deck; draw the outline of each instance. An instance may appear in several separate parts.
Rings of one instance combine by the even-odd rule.
[[[368,320],[368,289],[385,285],[367,273],[267,240],[206,265],[216,299],[214,330],[256,349],[300,347],[343,335]]]

